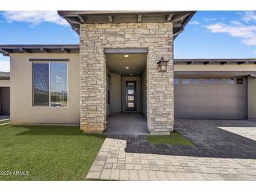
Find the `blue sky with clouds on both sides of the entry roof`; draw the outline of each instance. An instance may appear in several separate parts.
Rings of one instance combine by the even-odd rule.
[[[0,44],[79,43],[55,11],[1,11]],[[256,57],[256,11],[198,11],[174,43],[175,58]],[[0,71],[8,71],[0,56]]]

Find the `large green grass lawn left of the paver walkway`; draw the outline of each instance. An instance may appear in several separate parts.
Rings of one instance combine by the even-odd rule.
[[[105,135],[78,127],[0,126],[0,180],[84,180]],[[3,171],[29,172],[3,176]]]

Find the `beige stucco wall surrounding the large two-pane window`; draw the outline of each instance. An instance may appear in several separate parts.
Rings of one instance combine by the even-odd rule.
[[[29,58],[69,59],[68,107],[32,107],[32,62]],[[79,123],[79,54],[11,54],[11,122]]]

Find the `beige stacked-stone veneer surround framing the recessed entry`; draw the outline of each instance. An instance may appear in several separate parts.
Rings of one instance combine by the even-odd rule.
[[[80,25],[81,129],[102,132],[106,128],[106,62],[104,48],[148,48],[147,125],[151,134],[173,130],[173,24],[109,23]],[[164,57],[168,69],[157,62]]]

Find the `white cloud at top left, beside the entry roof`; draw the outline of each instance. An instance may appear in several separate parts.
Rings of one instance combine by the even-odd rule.
[[[8,22],[29,22],[32,26],[39,25],[41,22],[69,25],[57,11],[4,11],[3,15]]]

